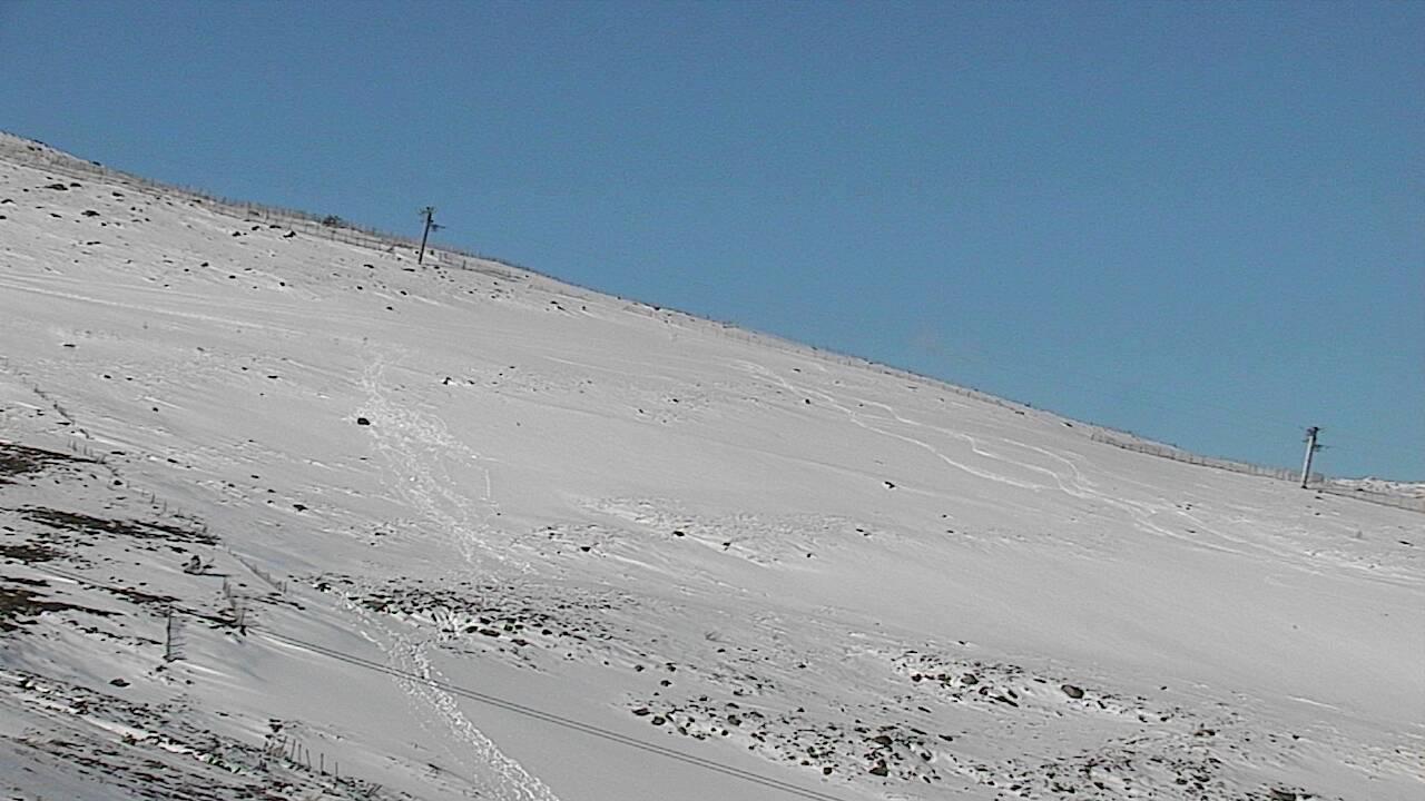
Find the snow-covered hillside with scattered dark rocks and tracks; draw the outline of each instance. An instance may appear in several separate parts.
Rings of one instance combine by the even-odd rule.
[[[0,145],[6,797],[1425,794],[1425,516]]]

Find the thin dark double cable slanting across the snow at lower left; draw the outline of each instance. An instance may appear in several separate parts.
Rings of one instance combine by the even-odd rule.
[[[107,582],[100,582],[100,580],[95,580],[95,579],[90,579],[87,576],[80,576],[80,574],[76,574],[76,573],[70,573],[67,570],[60,570],[57,567],[46,566],[46,567],[37,569],[37,570],[40,573],[51,573],[51,574],[54,574],[57,577],[70,579],[73,582],[88,584],[91,587],[98,587],[98,589],[105,589],[105,590],[113,590],[113,591],[124,591],[123,587],[118,587],[115,584],[110,584]],[[204,620],[214,620],[212,614],[209,614],[207,611],[202,611],[202,610],[185,607],[185,606],[181,606],[181,604],[171,604],[171,609],[174,611],[190,614],[190,616],[194,616],[194,617],[201,617]],[[579,720],[569,718],[569,717],[564,717],[564,715],[560,715],[560,714],[556,714],[556,713],[550,713],[550,711],[544,711],[544,710],[540,710],[540,708],[536,708],[536,707],[520,704],[517,701],[510,701],[510,700],[502,698],[499,696],[493,696],[493,694],[489,694],[489,693],[482,693],[479,690],[472,690],[469,687],[462,687],[462,686],[453,684],[450,681],[443,681],[443,680],[439,680],[439,678],[430,678],[430,677],[426,677],[426,676],[420,676],[418,673],[410,673],[408,670],[400,670],[400,668],[396,668],[396,667],[390,667],[388,664],[372,661],[372,660],[368,660],[365,657],[359,657],[356,654],[349,654],[349,653],[345,653],[345,651],[339,651],[339,650],[328,647],[328,646],[322,646],[322,644],[318,644],[318,643],[308,643],[306,640],[301,640],[298,637],[289,637],[286,634],[278,634],[275,631],[268,631],[268,630],[262,630],[262,629],[254,629],[254,631],[256,634],[261,634],[262,637],[269,639],[269,640],[274,640],[274,641],[278,641],[278,643],[285,643],[288,646],[295,646],[295,647],[304,648],[304,650],[306,650],[309,653],[314,653],[314,654],[318,654],[318,656],[323,656],[323,657],[328,657],[328,658],[332,658],[332,660],[336,660],[336,661],[342,661],[342,663],[351,664],[353,667],[361,667],[361,668],[365,668],[365,670],[375,671],[375,673],[383,673],[383,674],[392,676],[395,678],[405,678],[405,680],[409,680],[409,681],[420,681],[420,683],[428,684],[430,687],[435,687],[435,688],[439,688],[439,690],[445,690],[446,693],[450,693],[453,696],[460,696],[462,698],[469,698],[472,701],[479,701],[482,704],[487,704],[487,706],[492,706],[492,707],[496,707],[496,708],[502,708],[502,710],[506,710],[506,711],[510,711],[510,713],[514,713],[514,714],[519,714],[519,715],[523,715],[523,717],[534,718],[534,720],[539,720],[539,721],[543,721],[543,723],[547,723],[547,724],[551,724],[551,725],[560,725],[563,728],[579,731],[579,733],[587,734],[590,737],[598,737],[598,738],[603,738],[603,740],[608,740],[608,741],[616,743],[618,745],[626,745],[626,747],[630,747],[630,748],[646,751],[648,754],[657,754],[660,757],[665,757],[665,758],[670,758],[670,760],[677,760],[677,761],[688,764],[688,765],[694,765],[694,767],[698,767],[698,768],[703,768],[703,770],[720,772],[722,775],[728,775],[728,777],[738,778],[738,780],[742,780],[742,781],[748,781],[751,784],[758,784],[758,785],[762,785],[762,787],[767,787],[767,788],[771,788],[771,790],[779,790],[779,791],[787,792],[789,795],[797,795],[797,797],[801,797],[801,798],[811,798],[814,801],[842,801],[841,798],[838,798],[835,795],[831,795],[831,794],[826,794],[826,792],[821,792],[821,791],[817,791],[817,790],[808,790],[808,788],[804,788],[804,787],[798,787],[795,784],[791,784],[791,782],[787,782],[787,781],[782,781],[782,780],[778,780],[778,778],[772,778],[772,777],[767,777],[767,775],[762,775],[762,774],[757,774],[757,772],[752,772],[752,771],[748,771],[748,770],[744,770],[744,768],[738,768],[735,765],[728,765],[725,763],[718,763],[718,761],[710,760],[707,757],[698,757],[698,755],[694,755],[694,754],[684,754],[683,751],[677,751],[677,750],[668,748],[665,745],[658,745],[658,744],[654,744],[654,743],[644,743],[643,740],[638,740],[636,737],[630,737],[627,734],[620,734],[617,731],[613,731],[613,730],[600,727],[600,725],[594,725],[591,723],[579,721]]]

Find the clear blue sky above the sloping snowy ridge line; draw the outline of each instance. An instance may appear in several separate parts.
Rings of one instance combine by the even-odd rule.
[[[0,127],[1194,450],[1425,479],[1422,3],[0,0]]]

